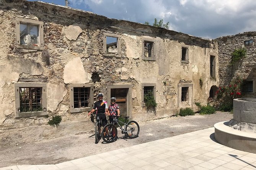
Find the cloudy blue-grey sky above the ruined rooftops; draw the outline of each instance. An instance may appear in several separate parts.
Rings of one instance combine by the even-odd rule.
[[[34,1],[34,0],[29,0]],[[41,0],[64,5],[65,0]],[[256,31],[256,0],[68,0],[72,8],[108,18],[153,24],[202,38]]]

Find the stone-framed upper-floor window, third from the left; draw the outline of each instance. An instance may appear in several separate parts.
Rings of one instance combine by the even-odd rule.
[[[155,61],[155,49],[155,39],[142,38],[142,59]]]

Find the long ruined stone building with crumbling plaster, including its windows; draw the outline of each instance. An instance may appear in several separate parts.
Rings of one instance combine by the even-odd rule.
[[[0,127],[89,123],[99,92],[131,119],[168,117],[219,81],[216,41],[43,2],[0,0],[0,42]]]

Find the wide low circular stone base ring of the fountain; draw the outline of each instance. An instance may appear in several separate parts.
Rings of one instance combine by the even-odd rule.
[[[236,130],[227,124],[228,122],[215,123],[215,139],[230,148],[256,154],[256,133]]]

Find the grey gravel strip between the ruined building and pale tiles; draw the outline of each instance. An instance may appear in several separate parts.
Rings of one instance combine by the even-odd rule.
[[[228,121],[232,118],[233,114],[229,112],[217,112],[212,115],[196,114],[194,116],[170,117],[138,122],[140,133],[137,138],[124,139],[124,135],[121,131],[118,131],[119,139],[110,144],[103,143],[103,140],[95,144],[94,131],[91,131],[91,133],[17,144],[16,146],[0,145],[0,168],[12,165],[57,164],[114,149],[210,128],[217,122]]]

